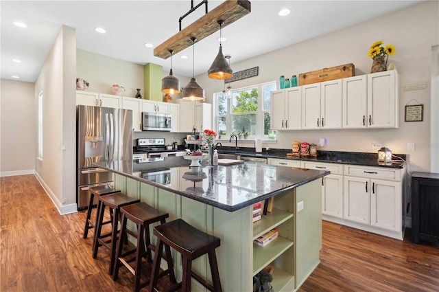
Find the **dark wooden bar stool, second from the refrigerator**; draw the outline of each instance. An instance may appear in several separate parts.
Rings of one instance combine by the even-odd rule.
[[[106,249],[110,251],[110,268],[108,269],[108,273],[110,275],[115,265],[117,234],[119,233],[117,223],[119,219],[120,207],[139,202],[139,199],[131,198],[130,196],[122,194],[121,192],[99,196],[99,201],[97,203],[95,237],[93,238],[93,258],[96,258],[97,249],[99,249],[99,247],[106,247]],[[106,206],[108,206],[110,211],[112,211],[112,228],[111,232],[102,235],[102,223],[104,221],[104,212]]]

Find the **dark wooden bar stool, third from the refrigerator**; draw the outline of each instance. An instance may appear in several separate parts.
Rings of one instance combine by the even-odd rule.
[[[138,292],[141,288],[150,284],[150,280],[141,284],[141,267],[142,258],[146,256],[148,262],[152,262],[151,251],[154,250],[154,245],[151,244],[150,237],[150,224],[160,222],[161,224],[166,222],[166,218],[169,214],[161,212],[154,207],[151,207],[147,203],[137,203],[128,206],[121,207],[121,231],[119,239],[117,240],[117,249],[115,256],[115,268],[113,269],[112,278],[117,280],[119,274],[119,267],[121,264],[126,266],[128,270],[135,276],[134,277],[134,291]],[[126,228],[127,220],[134,222],[137,225],[137,234],[132,234]],[[127,238],[127,234],[131,234],[134,238],[137,238],[137,247],[122,253],[123,240]],[[134,254],[132,256],[132,254]],[[171,282],[176,283],[174,275],[174,268],[172,267],[171,249],[166,247],[165,259],[167,260],[168,268],[161,273],[161,277],[169,274]],[[129,256],[131,256],[129,258]],[[134,261],[134,269],[131,267],[130,262]]]

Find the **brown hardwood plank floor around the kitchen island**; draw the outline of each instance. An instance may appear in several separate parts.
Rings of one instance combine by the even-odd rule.
[[[116,282],[107,274],[108,252],[92,258],[92,238],[82,238],[86,213],[61,216],[34,175],[1,177],[0,199],[1,292],[132,291],[126,269]],[[320,259],[300,292],[439,291],[439,245],[414,245],[410,236],[324,221]]]

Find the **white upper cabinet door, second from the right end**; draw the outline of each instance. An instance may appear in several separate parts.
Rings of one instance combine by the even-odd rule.
[[[366,128],[368,124],[367,76],[343,79],[343,128]]]

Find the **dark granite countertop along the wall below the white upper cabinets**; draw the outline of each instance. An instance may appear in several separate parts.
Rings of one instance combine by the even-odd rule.
[[[359,153],[359,152],[340,152],[340,151],[318,151],[317,157],[293,157],[287,156],[287,153],[291,153],[289,149],[270,149],[263,150],[262,153],[254,152],[254,148],[238,148],[235,147],[222,147],[219,153],[234,153],[235,155],[241,155],[246,157],[265,157],[265,158],[281,158],[291,160],[302,161],[316,161],[316,162],[329,162],[331,164],[351,164],[358,166],[376,166],[387,168],[403,168],[403,161],[397,157],[401,157],[406,160],[405,154],[395,154],[394,162],[390,165],[379,165],[377,153]],[[398,160],[398,161],[396,161]]]

